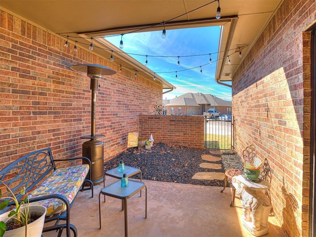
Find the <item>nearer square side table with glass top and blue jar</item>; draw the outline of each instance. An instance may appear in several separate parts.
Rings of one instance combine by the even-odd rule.
[[[118,180],[100,191],[99,194],[99,220],[100,220],[100,229],[101,229],[101,203],[100,196],[101,194],[115,197],[122,200],[122,210],[124,210],[124,226],[125,226],[125,237],[128,236],[127,233],[127,199],[134,196],[137,192],[141,191],[143,188],[146,190],[146,201],[145,201],[145,218],[147,218],[147,187],[143,182],[128,180],[129,185],[127,187],[120,186],[121,181]]]

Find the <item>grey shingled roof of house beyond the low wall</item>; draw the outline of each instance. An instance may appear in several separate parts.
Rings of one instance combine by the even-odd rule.
[[[203,93],[186,93],[174,99],[171,99],[166,106],[200,106],[200,105],[214,105],[232,107],[232,101],[222,100],[211,94]]]

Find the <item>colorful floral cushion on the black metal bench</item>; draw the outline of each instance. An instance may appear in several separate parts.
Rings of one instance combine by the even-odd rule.
[[[59,194],[66,197],[69,200],[69,203],[71,203],[79,192],[79,188],[88,171],[88,164],[56,169],[46,180],[32,191],[31,194],[29,194],[29,198]],[[66,210],[65,203],[57,198],[32,202],[32,205],[45,206],[47,209],[46,216],[59,214]]]

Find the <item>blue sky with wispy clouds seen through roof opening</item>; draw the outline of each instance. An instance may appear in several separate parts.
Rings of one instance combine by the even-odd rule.
[[[130,56],[142,64],[146,61],[146,56],[143,55],[149,55],[147,67],[177,87],[172,92],[163,94],[163,99],[173,99],[188,92],[201,92],[231,100],[231,88],[216,83],[214,79],[220,27],[166,30],[165,39],[161,38],[161,33],[162,31],[125,34],[122,38],[124,45],[122,50],[126,53],[140,54]],[[121,36],[106,38],[117,47],[120,39]],[[182,57],[199,54],[207,55]],[[209,64],[209,54],[212,64]],[[154,55],[170,57],[151,57]],[[178,56],[180,56],[180,67],[177,66]],[[191,70],[181,72],[186,69]],[[200,74],[201,69],[202,74]]]

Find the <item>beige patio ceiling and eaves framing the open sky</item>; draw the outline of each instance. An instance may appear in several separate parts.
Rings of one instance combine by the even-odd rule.
[[[159,24],[147,30],[166,30],[187,27],[202,27],[220,25],[222,27],[219,44],[219,62],[215,79],[231,81],[240,62],[238,53],[230,56],[231,65],[227,63],[228,49],[243,48],[242,55],[246,55],[254,41],[264,29],[266,23],[273,16],[275,10],[283,0],[220,0],[221,18],[215,19],[218,2],[207,4],[211,0],[1,0],[0,6],[24,17],[26,20],[40,25],[47,30],[64,36],[79,37],[78,42],[87,44],[90,39],[80,37],[97,37],[122,34],[144,26]],[[204,4],[204,7],[189,12]],[[146,30],[142,30],[146,31]],[[198,37],[198,36],[197,36]],[[100,40],[102,41],[102,40]],[[105,41],[105,40],[104,40]],[[99,43],[104,43],[99,42]],[[101,45],[101,44],[100,44]],[[114,45],[107,44],[109,49]],[[104,48],[104,45],[102,44]],[[117,50],[117,48],[115,47]],[[110,58],[110,52],[95,48],[94,53]],[[119,57],[116,63],[125,67],[135,67],[142,70],[144,65],[137,63],[131,57]],[[223,60],[225,59],[225,60]],[[147,69],[148,70],[148,69]],[[151,75],[142,75],[152,78]],[[164,79],[158,79],[163,88],[172,85]]]

